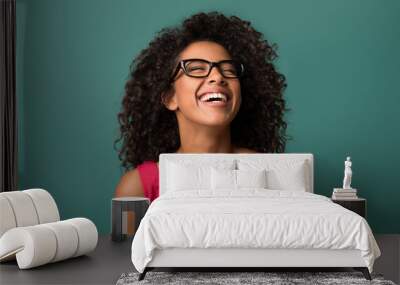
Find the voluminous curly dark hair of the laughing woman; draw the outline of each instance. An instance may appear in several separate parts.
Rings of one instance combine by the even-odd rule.
[[[178,122],[162,103],[171,87],[170,76],[179,54],[191,43],[212,41],[222,45],[245,66],[240,78],[242,103],[231,122],[231,142],[257,152],[284,152],[286,88],[284,75],[272,64],[276,44],[269,45],[250,22],[219,12],[198,13],[182,25],[162,29],[133,60],[118,114],[122,140],[119,158],[126,170],[146,161],[158,161],[160,153],[180,146]]]

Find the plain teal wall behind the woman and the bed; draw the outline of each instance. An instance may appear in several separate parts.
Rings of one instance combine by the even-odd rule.
[[[211,10],[250,20],[278,44],[292,109],[287,152],[315,154],[315,192],[341,185],[350,155],[372,229],[400,233],[396,0],[17,0],[19,187],[45,188],[62,218],[109,232],[131,60],[162,27]]]

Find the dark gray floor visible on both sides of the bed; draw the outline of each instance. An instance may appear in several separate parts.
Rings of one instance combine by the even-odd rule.
[[[382,256],[375,262],[374,273],[399,284],[400,235],[376,235],[376,240]],[[115,284],[122,273],[134,271],[130,250],[131,240],[115,243],[101,236],[96,250],[87,256],[28,270],[19,270],[15,261],[1,263],[0,284]]]

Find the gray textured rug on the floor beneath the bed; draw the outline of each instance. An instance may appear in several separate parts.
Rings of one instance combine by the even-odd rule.
[[[139,273],[124,273],[117,285],[133,284],[387,284],[380,274],[371,274],[372,281],[366,280],[361,272],[147,272],[145,279],[138,281]]]

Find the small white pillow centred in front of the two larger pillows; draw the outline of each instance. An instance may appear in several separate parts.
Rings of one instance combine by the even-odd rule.
[[[230,170],[211,168],[211,184],[213,190],[266,188],[266,170]]]

